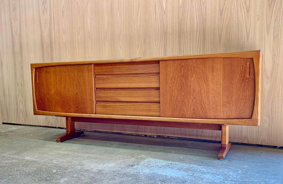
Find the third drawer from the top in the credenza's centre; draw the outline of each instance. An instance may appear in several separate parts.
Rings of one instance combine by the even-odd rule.
[[[159,90],[98,90],[96,101],[159,102]]]

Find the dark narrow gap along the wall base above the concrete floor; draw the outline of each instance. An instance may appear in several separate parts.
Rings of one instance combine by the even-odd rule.
[[[5,125],[17,125],[17,126],[36,126],[36,127],[66,129],[66,128],[55,127],[55,126],[26,125],[26,124],[6,123],[6,122],[2,122],[2,124],[5,124]],[[94,131],[94,130],[84,130],[84,129],[76,129],[76,130],[87,131],[87,132],[111,133],[111,134],[118,134],[118,135],[131,135],[131,136],[141,136],[141,137],[154,137],[154,138],[162,138],[162,139],[177,139],[177,140],[191,140],[191,141],[198,141],[198,142],[221,143],[221,141],[218,141],[218,140],[205,140],[205,139],[182,138],[182,137],[171,137],[171,136],[151,136],[151,135],[134,134],[134,133]],[[249,143],[235,143],[235,142],[230,142],[230,143],[233,144],[233,145],[248,145],[248,146],[259,146],[259,147],[268,147],[268,148],[283,149],[282,146],[271,146],[271,145],[249,144]]]

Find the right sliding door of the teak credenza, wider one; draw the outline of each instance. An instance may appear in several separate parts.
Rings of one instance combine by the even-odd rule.
[[[252,58],[160,61],[160,116],[251,118],[255,98]]]

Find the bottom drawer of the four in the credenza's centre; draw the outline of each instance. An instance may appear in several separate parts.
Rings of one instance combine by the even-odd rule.
[[[96,114],[160,116],[159,103],[96,103]]]

